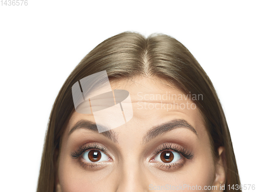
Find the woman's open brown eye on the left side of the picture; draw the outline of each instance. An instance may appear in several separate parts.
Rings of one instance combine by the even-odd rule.
[[[88,162],[108,161],[109,157],[99,150],[89,150],[82,154],[82,158]]]

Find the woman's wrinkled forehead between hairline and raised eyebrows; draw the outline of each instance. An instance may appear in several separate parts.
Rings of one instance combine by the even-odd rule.
[[[184,119],[189,122],[200,133],[203,126],[203,118],[197,109],[193,99],[200,99],[200,96],[193,97],[181,92],[174,84],[164,79],[152,77],[133,77],[130,79],[111,79],[112,90],[126,90],[129,92],[133,108],[133,117],[130,121],[120,126],[133,126],[130,131],[138,131],[136,125],[140,126],[140,131],[145,132],[154,125],[163,122]],[[100,91],[99,91],[100,92]],[[97,90],[93,92],[97,95]],[[109,96],[109,95],[108,95]],[[110,115],[110,114],[107,114]],[[71,116],[68,130],[80,119],[87,119],[95,122],[95,114],[80,114],[74,112]],[[102,118],[102,124],[108,121],[109,116]],[[112,118],[112,117],[111,117]],[[113,115],[115,118],[115,115]],[[116,119],[118,121],[118,119]],[[116,130],[116,129],[115,129]]]

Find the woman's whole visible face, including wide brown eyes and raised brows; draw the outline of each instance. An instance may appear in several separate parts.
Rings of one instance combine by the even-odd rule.
[[[145,77],[111,81],[113,90],[130,93],[133,117],[107,132],[83,126],[96,124],[93,114],[74,112],[62,137],[58,190],[201,191],[217,185],[209,136],[193,97],[165,84]],[[78,121],[83,125],[72,130]]]

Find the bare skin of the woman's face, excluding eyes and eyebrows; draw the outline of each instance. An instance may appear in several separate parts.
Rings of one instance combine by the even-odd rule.
[[[185,97],[182,97],[182,100],[160,100],[159,97],[155,97],[154,100],[153,97],[150,99],[152,94],[163,95],[166,94],[166,91],[168,94],[176,94],[177,96],[183,94],[174,85],[169,85],[172,88],[167,87],[164,80],[153,77],[134,77],[129,80],[111,81],[113,90],[129,91],[133,106],[133,118],[112,130],[117,135],[117,143],[88,129],[77,129],[69,135],[72,127],[81,119],[95,123],[93,114],[74,112],[62,137],[58,156],[57,191],[152,191],[152,189],[157,189],[157,186],[165,186],[166,184],[169,186],[183,184],[191,187],[201,186],[202,189],[204,186],[218,186],[217,190],[204,191],[223,191],[220,190],[220,184],[224,184],[226,180],[222,153],[224,148],[219,148],[219,154],[222,158],[215,164],[202,115],[197,108],[191,109],[191,106],[195,107],[192,105],[193,101],[185,99]],[[177,107],[167,111],[167,104],[165,104],[165,109],[161,109],[161,102],[173,103],[174,101],[179,106],[182,103],[188,104],[186,104],[185,109],[178,109]],[[170,106],[169,104],[169,108]],[[186,120],[194,127],[197,134],[190,129],[180,127],[142,144],[143,136],[148,130],[175,119]],[[80,161],[85,160],[82,158],[73,159],[70,153],[87,142],[103,145],[107,148],[106,155],[110,159],[98,163],[100,164],[98,167],[82,167]],[[181,157],[176,162],[179,165],[166,168],[164,162],[157,161],[157,155],[154,155],[156,148],[162,146],[163,143],[172,143],[185,148],[192,152],[194,157],[189,160],[182,155],[176,156]],[[186,187],[183,188],[183,191],[202,190]]]

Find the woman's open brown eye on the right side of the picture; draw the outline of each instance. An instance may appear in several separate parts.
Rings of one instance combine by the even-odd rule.
[[[164,163],[176,163],[182,158],[182,156],[174,151],[163,151],[159,153],[156,157],[156,161],[162,161]]]

